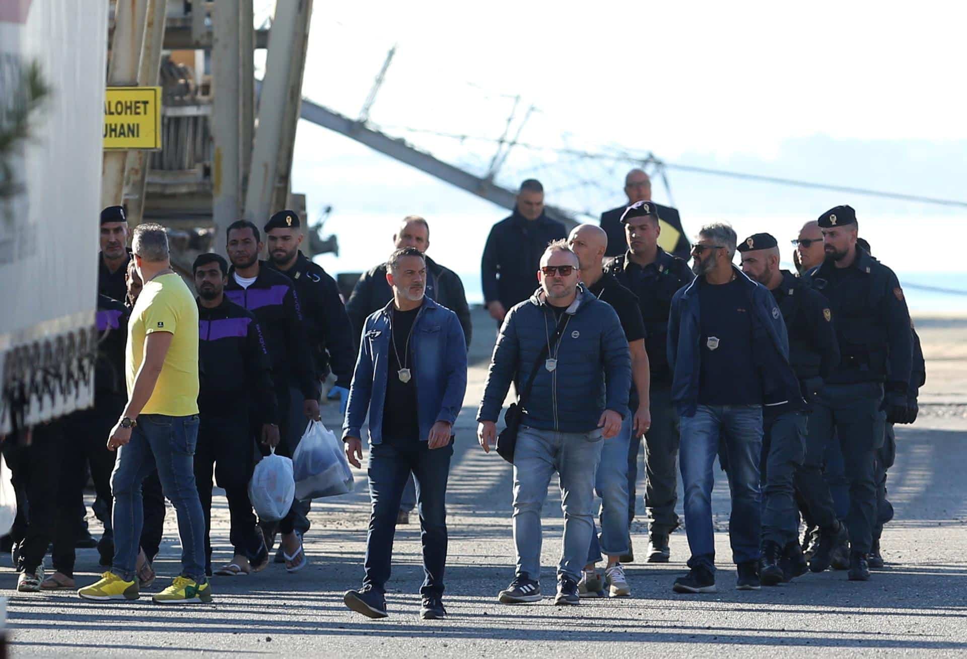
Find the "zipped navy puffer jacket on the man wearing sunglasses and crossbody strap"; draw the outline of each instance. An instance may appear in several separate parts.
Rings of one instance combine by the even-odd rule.
[[[584,286],[564,312],[567,326],[553,371],[540,366],[522,423],[538,430],[586,433],[598,427],[604,410],[628,415],[631,356],[625,330],[610,304],[598,300]],[[554,311],[538,289],[530,299],[513,306],[493,349],[478,421],[496,421],[511,382],[520,391],[535,360],[557,328]]]

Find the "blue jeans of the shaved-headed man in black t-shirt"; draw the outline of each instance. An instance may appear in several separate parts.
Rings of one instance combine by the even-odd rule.
[[[591,533],[588,562],[601,560],[601,552],[608,556],[628,554],[628,446],[631,441],[631,415],[626,415],[621,432],[605,440],[601,446],[601,462],[595,476],[595,491],[601,497],[601,542],[598,529]],[[592,520],[592,524],[594,521]]]

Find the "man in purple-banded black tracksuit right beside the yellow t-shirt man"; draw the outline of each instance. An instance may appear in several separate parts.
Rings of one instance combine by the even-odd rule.
[[[258,572],[269,552],[249,501],[254,444],[249,414],[261,423],[262,444],[278,444],[278,405],[262,330],[249,310],[225,298],[228,264],[218,254],[194,260],[198,291],[198,443],[194,480],[205,511],[205,568],[212,569],[212,470],[225,490],[235,556],[218,574]]]

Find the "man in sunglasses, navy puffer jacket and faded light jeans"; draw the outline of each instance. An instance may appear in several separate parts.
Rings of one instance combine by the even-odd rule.
[[[538,280],[541,288],[513,306],[500,329],[477,434],[489,452],[512,379],[515,390],[523,390],[541,358],[513,456],[516,573],[499,600],[521,604],[541,599],[541,508],[557,472],[565,524],[554,604],[577,604],[577,582],[593,533],[601,442],[617,435],[629,414],[631,359],[618,315],[579,285],[577,257],[565,241],[547,246]],[[563,330],[552,341],[558,327]]]

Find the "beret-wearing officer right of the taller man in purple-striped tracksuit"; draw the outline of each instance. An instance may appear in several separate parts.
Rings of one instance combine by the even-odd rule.
[[[299,251],[304,238],[300,227],[295,211],[279,211],[269,218],[265,225],[269,265],[295,284],[315,359],[316,378],[325,380],[332,369],[336,387],[341,389],[341,411],[345,412],[345,397],[349,395],[356,364],[354,332],[339,298],[336,280]]]

